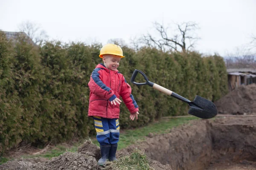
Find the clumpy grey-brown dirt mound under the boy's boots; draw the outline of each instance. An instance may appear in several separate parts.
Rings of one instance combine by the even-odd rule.
[[[127,156],[128,152],[119,152],[120,156]],[[66,152],[51,160],[43,160],[45,162],[27,160],[9,161],[6,164],[0,165],[0,170],[109,170],[111,163],[107,167],[101,167],[97,164],[100,159],[100,149],[91,141],[86,141],[82,144],[77,152]],[[160,164],[157,161],[148,160],[149,165],[154,170],[171,170],[169,165]]]

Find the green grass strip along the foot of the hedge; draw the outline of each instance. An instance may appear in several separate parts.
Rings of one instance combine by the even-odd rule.
[[[182,125],[184,123],[189,122],[189,120],[199,119],[197,117],[181,117],[181,118],[170,118],[170,119],[163,119],[159,122],[151,123],[148,126],[140,127],[133,130],[125,130],[124,133],[120,133],[119,142],[118,142],[118,150],[128,147],[131,144],[136,144],[138,142],[144,141],[146,138],[145,136],[148,133],[154,134],[163,134],[169,133],[172,127],[176,127],[178,125]],[[99,146],[99,142],[96,140],[96,137],[91,137],[91,140],[94,144]],[[76,152],[77,148],[81,145],[80,142],[75,143],[71,148],[64,147],[61,144],[57,145],[54,149],[47,151],[44,154],[40,155],[24,155],[22,158],[35,158],[35,157],[44,157],[47,159],[51,159],[52,157],[59,156],[67,151],[69,152]],[[0,164],[5,163],[8,161],[9,158],[0,157]]]

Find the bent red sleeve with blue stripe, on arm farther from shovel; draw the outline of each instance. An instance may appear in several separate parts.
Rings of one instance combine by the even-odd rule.
[[[113,99],[116,98],[116,95],[113,93],[111,88],[102,82],[100,70],[100,68],[94,69],[90,76],[90,82],[88,83],[90,91],[102,97],[103,99],[109,99],[110,101],[113,101]]]

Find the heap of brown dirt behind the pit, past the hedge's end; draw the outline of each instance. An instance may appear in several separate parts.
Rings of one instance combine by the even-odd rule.
[[[256,84],[242,85],[215,102],[218,113],[256,114]]]

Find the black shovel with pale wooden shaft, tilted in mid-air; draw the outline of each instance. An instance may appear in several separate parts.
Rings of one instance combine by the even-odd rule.
[[[144,79],[146,80],[146,82],[143,83],[138,83],[138,82],[134,82],[135,77],[137,76],[137,74],[140,73],[143,75]],[[160,85],[157,85],[153,82],[150,82],[147,78],[147,76],[140,70],[135,69],[132,76],[131,76],[131,82],[134,85],[149,85],[151,87],[153,87],[154,89],[157,89],[158,91],[163,92],[164,94],[167,94],[169,96],[172,96],[176,99],[179,99],[183,102],[186,102],[189,105],[189,114],[199,117],[201,119],[210,119],[214,116],[217,115],[218,110],[217,107],[215,106],[215,104],[201,96],[196,96],[194,101],[191,102],[190,100],[184,98],[183,96],[180,96]]]

